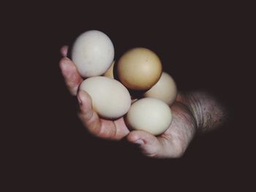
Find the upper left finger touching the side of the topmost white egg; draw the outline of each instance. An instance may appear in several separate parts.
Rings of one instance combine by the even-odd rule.
[[[82,77],[78,73],[75,64],[69,58],[61,58],[59,62],[62,75],[66,82],[67,88],[70,93],[75,96],[78,92],[78,87],[83,81]]]

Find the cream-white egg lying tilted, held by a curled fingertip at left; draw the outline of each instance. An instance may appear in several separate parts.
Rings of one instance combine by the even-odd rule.
[[[83,80],[80,90],[89,93],[94,111],[102,118],[120,118],[131,106],[127,88],[109,77],[89,77]]]

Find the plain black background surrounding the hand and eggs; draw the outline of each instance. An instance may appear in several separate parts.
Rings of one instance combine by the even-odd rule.
[[[210,191],[252,184],[254,126],[245,106],[252,107],[253,79],[244,71],[252,64],[246,60],[249,5],[70,1],[11,7],[2,15],[7,50],[2,77],[8,82],[3,91],[11,100],[4,104],[10,137],[3,145],[9,187]],[[229,122],[196,137],[180,159],[145,158],[125,140],[91,137],[59,70],[61,46],[91,29],[108,34],[115,58],[130,47],[154,50],[179,90],[214,94],[230,111]]]

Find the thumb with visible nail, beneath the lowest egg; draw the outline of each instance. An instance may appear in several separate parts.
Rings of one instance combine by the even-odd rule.
[[[131,131],[127,139],[139,145],[142,152],[149,157],[157,157],[161,153],[162,145],[157,137],[146,131]]]

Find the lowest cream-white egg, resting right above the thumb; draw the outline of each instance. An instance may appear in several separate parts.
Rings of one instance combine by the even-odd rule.
[[[169,128],[172,112],[165,102],[154,98],[135,101],[125,116],[129,128],[159,135]]]

